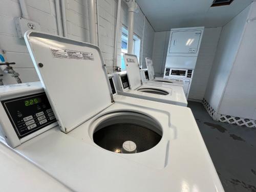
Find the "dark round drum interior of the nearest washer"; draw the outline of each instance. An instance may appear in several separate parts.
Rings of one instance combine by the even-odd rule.
[[[136,146],[134,153],[140,153],[156,146],[161,138],[159,125],[152,118],[138,113],[113,116],[101,122],[93,134],[97,145],[116,153],[122,153],[126,141],[132,141]]]

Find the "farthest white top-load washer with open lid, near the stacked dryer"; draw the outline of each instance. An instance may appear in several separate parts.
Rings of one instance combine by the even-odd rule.
[[[141,76],[145,83],[154,82],[154,83],[160,83],[160,84],[171,84],[172,86],[183,86],[182,79],[174,79],[174,78],[167,79],[163,77],[156,77],[152,59],[146,57],[145,61],[146,61],[147,69],[141,70]]]

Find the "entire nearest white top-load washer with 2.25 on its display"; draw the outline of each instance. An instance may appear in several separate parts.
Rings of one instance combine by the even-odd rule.
[[[94,45],[35,31],[25,40],[47,97],[32,84],[1,92],[1,131],[14,152],[72,191],[224,191],[189,108],[113,96]],[[38,123],[48,99],[57,126]]]

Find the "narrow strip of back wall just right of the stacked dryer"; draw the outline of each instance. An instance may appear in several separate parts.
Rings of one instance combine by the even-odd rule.
[[[221,27],[205,28],[188,98],[203,100],[221,34]]]

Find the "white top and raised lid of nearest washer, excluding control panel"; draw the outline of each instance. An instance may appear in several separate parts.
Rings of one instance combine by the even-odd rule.
[[[26,43],[60,126],[69,125],[66,131],[73,130],[65,134],[56,126],[14,151],[73,191],[224,191],[189,108],[120,95],[112,103],[109,79],[95,46],[38,32],[27,32]],[[81,52],[87,53],[85,60],[84,55],[80,58]],[[44,67],[39,69],[39,62]],[[82,98],[82,102],[74,100]],[[137,154],[117,154],[96,145],[92,136],[100,120],[124,112],[154,119],[162,130],[160,142]],[[66,114],[70,114],[68,120]]]

